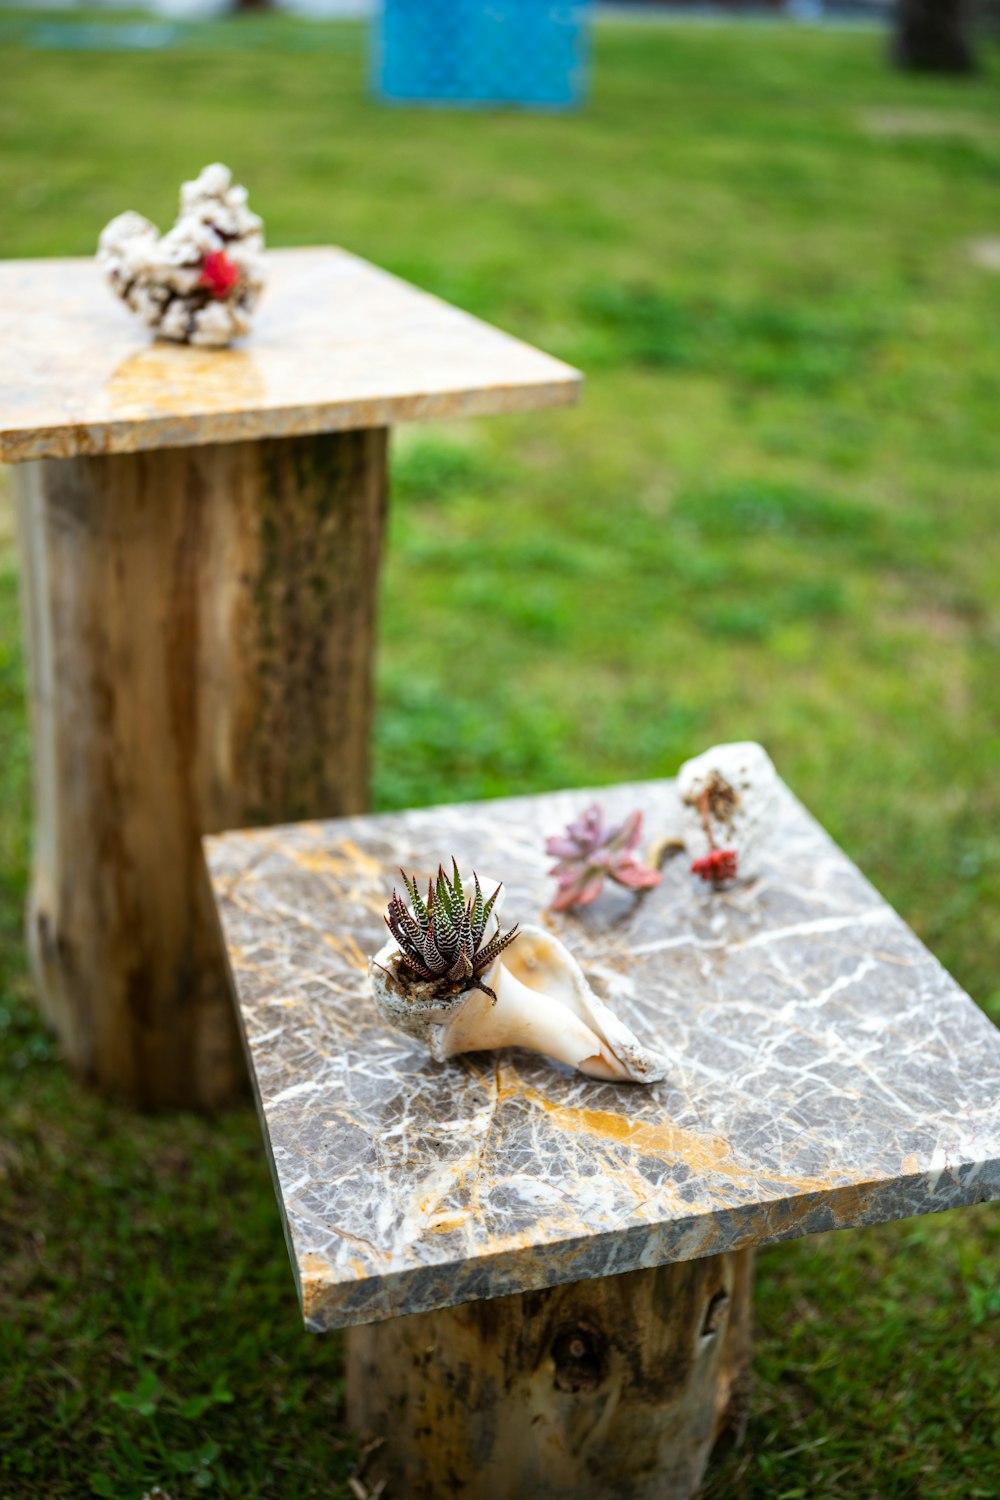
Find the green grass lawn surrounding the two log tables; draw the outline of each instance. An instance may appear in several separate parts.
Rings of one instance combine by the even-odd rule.
[[[378,806],[762,740],[1000,1018],[1000,276],[970,252],[1000,242],[996,57],[915,81],[870,33],[609,26],[582,114],[456,116],[370,104],[352,27],[115,54],[27,26],[0,255],[165,224],[222,159],[271,243],[345,244],[588,374],[571,412],[399,435]],[[135,1119],[34,1018],[6,507],[0,736],[0,1496],[348,1497],[340,1344],[301,1332],[255,1118]],[[996,1496],[997,1251],[984,1206],[765,1252],[712,1500]]]

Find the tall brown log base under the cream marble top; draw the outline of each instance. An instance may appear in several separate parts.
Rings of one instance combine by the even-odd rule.
[[[217,1106],[244,1074],[199,838],[366,806],[385,434],[13,482],[40,1005],[85,1080]]]

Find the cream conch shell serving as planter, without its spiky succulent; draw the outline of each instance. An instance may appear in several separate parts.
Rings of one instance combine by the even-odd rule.
[[[633,1036],[597,998],[565,944],[543,927],[522,926],[484,972],[496,1000],[478,988],[442,993],[441,986],[400,978],[397,960],[394,940],[369,960],[375,1008],[390,1026],[424,1041],[438,1062],[462,1052],[525,1047],[589,1078],[657,1083],[666,1076],[666,1059]]]

